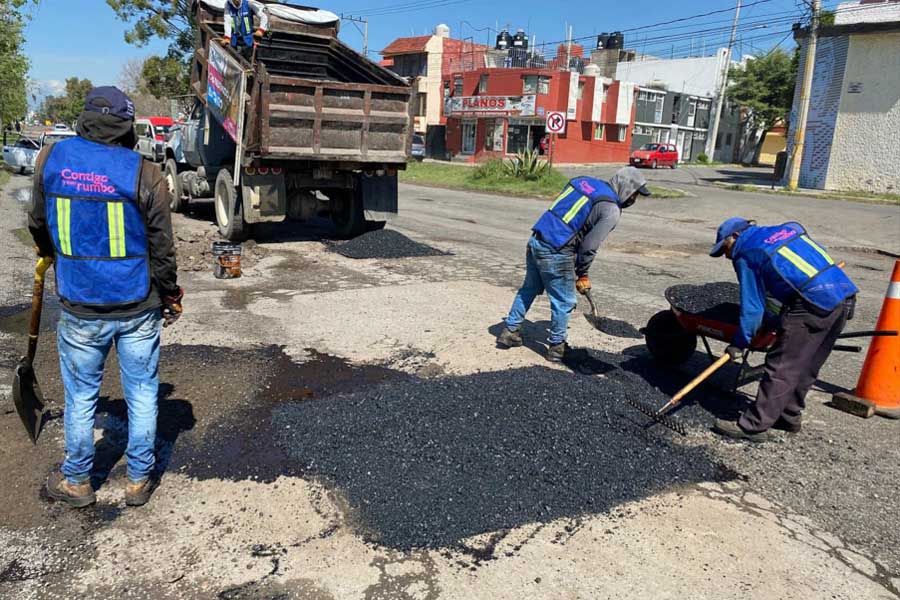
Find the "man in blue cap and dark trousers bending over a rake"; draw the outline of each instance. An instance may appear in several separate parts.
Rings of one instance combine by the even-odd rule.
[[[773,427],[796,433],[806,394],[852,318],[856,285],[799,223],[760,227],[728,219],[709,253],[723,254],[741,287],[740,326],[726,350],[731,358],[750,345],[767,311],[780,319],[756,402],[737,422],[716,420],[714,431],[753,442],[765,441]]]

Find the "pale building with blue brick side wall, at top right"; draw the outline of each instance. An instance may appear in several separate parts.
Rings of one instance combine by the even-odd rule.
[[[796,34],[806,61],[807,31]],[[800,78],[788,156],[800,187],[900,192],[900,0],[845,2],[821,27],[802,157],[793,157]]]

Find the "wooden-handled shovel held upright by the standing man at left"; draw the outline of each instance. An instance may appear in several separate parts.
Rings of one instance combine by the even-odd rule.
[[[16,412],[22,419],[25,431],[28,432],[31,441],[37,444],[37,437],[41,433],[41,424],[44,417],[44,397],[34,376],[34,355],[37,352],[37,338],[41,329],[41,309],[44,304],[44,274],[53,259],[42,257],[38,260],[34,269],[34,291],[31,296],[31,324],[28,326],[28,353],[16,365],[16,374],[13,378],[13,403]]]

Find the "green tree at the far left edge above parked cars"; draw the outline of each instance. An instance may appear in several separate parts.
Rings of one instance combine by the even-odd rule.
[[[29,0],[0,0],[0,130],[28,112],[28,59],[22,52]]]

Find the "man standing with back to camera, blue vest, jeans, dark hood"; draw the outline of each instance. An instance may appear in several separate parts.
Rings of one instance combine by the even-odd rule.
[[[74,507],[96,501],[90,475],[94,413],[113,344],[128,405],[125,503],[153,493],[160,325],[181,315],[169,194],[155,164],[133,151],[134,105],[114,87],[88,94],[78,135],[45,148],[28,227],[54,258],[65,387],[66,457],[47,492]]]

